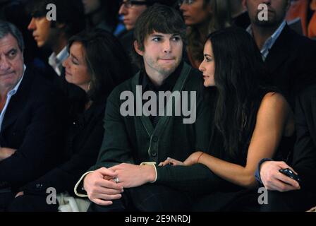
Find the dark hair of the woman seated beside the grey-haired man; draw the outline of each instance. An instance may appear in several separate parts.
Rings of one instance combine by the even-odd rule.
[[[73,42],[80,42],[85,49],[85,61],[91,76],[91,100],[107,97],[109,93],[132,76],[130,62],[119,40],[111,33],[97,29],[80,32],[68,41],[68,50]]]

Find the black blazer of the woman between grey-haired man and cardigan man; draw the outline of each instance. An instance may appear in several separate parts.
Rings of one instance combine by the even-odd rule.
[[[73,194],[75,183],[97,161],[104,134],[106,99],[103,97],[102,100],[93,102],[87,111],[71,121],[65,148],[68,160],[43,177],[30,182],[21,191],[25,194],[45,194],[47,188],[54,187],[57,193],[68,191]]]

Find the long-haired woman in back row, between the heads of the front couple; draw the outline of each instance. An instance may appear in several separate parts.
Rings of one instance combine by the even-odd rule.
[[[228,0],[179,0],[178,6],[188,26],[187,53],[190,64],[198,68],[203,60],[203,46],[210,32],[231,25]]]

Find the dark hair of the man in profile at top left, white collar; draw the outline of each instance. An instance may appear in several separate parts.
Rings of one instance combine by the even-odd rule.
[[[84,29],[83,4],[78,0],[32,0],[27,5],[27,11],[34,18],[46,17],[48,4],[56,6],[56,21],[51,20],[51,28],[56,27],[56,23],[65,24],[63,30],[67,38]]]

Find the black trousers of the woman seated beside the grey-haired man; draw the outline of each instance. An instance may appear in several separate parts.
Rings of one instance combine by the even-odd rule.
[[[8,212],[57,212],[57,204],[47,204],[47,196],[24,195],[14,198],[8,204]]]

